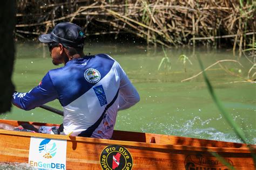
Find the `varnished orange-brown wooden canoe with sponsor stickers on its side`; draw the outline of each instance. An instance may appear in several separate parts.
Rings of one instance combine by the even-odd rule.
[[[24,122],[0,119],[0,123],[18,126]],[[113,139],[107,140],[0,130],[0,162],[33,165],[35,161],[29,158],[32,138],[66,141],[65,167],[56,164],[57,169],[255,169],[256,145],[249,149],[240,143],[126,131],[114,131]]]

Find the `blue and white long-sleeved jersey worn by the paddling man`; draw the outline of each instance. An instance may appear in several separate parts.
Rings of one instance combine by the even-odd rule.
[[[64,109],[64,134],[78,136],[103,116],[91,137],[109,139],[117,111],[136,104],[139,94],[116,60],[98,54],[49,70],[28,93],[14,93],[12,103],[30,110],[55,99]]]

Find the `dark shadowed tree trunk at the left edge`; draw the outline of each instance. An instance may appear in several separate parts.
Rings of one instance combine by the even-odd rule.
[[[1,2],[0,25],[0,113],[4,113],[11,110],[11,96],[14,93],[11,76],[15,58],[15,0]]]

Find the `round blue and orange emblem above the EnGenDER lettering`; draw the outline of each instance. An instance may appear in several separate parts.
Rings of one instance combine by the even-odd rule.
[[[51,139],[44,139],[39,145],[39,153],[46,159],[50,159],[55,156],[57,151],[56,143]]]

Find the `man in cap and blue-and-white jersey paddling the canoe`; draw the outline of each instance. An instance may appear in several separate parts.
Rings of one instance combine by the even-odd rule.
[[[72,136],[110,139],[117,111],[139,102],[139,94],[119,63],[107,54],[84,55],[85,34],[72,23],[59,23],[47,43],[54,65],[28,93],[15,92],[12,103],[30,110],[58,99],[64,109],[63,132]]]

